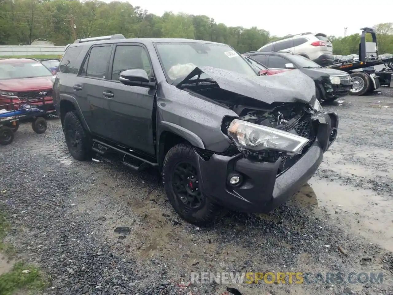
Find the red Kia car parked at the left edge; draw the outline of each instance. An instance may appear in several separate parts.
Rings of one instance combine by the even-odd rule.
[[[46,66],[34,59],[0,58],[0,109],[18,109],[28,103],[45,111],[54,110],[52,76]]]

